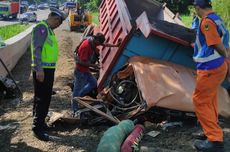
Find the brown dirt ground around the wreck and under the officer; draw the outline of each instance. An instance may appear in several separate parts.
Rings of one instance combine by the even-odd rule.
[[[63,25],[55,33],[58,37],[60,53],[55,75],[54,90],[57,94],[52,96],[50,111],[70,111],[71,89],[67,85],[73,79],[74,61],[72,50],[79,43],[81,34],[69,32]],[[109,126],[81,126],[62,125],[57,131],[50,132],[58,137],[58,140],[43,142],[36,139],[31,130],[33,86],[30,71],[30,51],[21,58],[13,70],[13,75],[23,92],[23,102],[18,105],[15,100],[7,100],[0,105],[0,151],[2,152],[94,152],[103,132]],[[170,127],[163,130],[156,123],[149,123],[145,135],[141,141],[143,149],[150,152],[194,152],[192,147],[194,137],[192,133],[199,132],[195,118],[176,118],[182,122],[182,126]],[[164,116],[167,120],[168,116]],[[230,121],[221,120],[221,126],[225,134],[225,150],[230,151]],[[159,122],[160,124],[160,122]],[[3,126],[8,126],[3,128]],[[159,131],[156,137],[147,135],[149,131]],[[143,150],[146,151],[146,150]],[[109,152],[109,149],[108,149]]]

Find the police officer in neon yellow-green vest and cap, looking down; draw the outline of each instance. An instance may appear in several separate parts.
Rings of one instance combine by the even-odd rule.
[[[34,84],[32,130],[40,140],[48,141],[45,123],[51,101],[54,72],[58,59],[58,42],[53,30],[60,26],[66,15],[52,8],[48,19],[38,23],[32,31],[31,55]]]

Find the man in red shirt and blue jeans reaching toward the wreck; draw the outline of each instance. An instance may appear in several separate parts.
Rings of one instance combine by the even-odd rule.
[[[76,55],[76,67],[74,71],[74,87],[72,97],[83,97],[94,88],[97,87],[96,78],[90,73],[90,68],[99,69],[99,66],[95,64],[99,56],[98,46],[105,47],[118,47],[120,42],[116,45],[104,44],[105,36],[102,33],[86,37],[75,51]],[[78,104],[71,100],[71,106],[73,110],[73,116],[78,110]]]

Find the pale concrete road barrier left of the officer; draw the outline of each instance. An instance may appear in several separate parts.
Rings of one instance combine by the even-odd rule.
[[[0,48],[0,58],[3,60],[9,71],[11,71],[22,55],[26,52],[31,41],[31,31],[35,25],[32,25],[24,32],[5,41],[6,46]],[[29,65],[28,65],[29,66]],[[0,65],[0,76],[5,77],[7,71]]]

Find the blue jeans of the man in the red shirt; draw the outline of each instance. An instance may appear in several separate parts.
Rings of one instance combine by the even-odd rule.
[[[83,97],[97,87],[97,79],[89,72],[74,71],[73,97]],[[71,100],[72,110],[78,110],[78,104]]]

